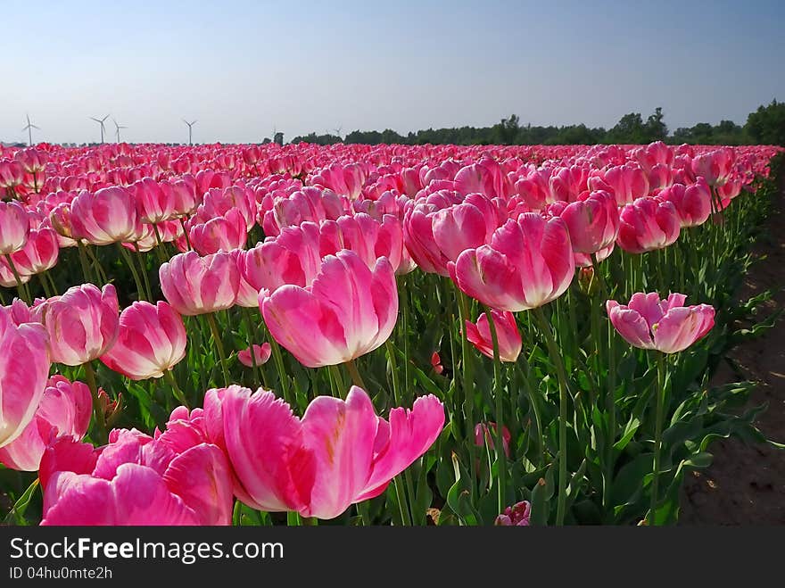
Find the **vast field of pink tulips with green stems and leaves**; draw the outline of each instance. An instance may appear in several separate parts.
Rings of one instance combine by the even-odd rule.
[[[0,146],[0,515],[673,523],[781,151]]]

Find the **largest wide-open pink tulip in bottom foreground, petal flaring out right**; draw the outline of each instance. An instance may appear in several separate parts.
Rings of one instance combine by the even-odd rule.
[[[357,386],[345,401],[318,396],[302,419],[275,394],[236,385],[208,391],[204,407],[210,438],[234,469],[240,501],[316,518],[335,518],[383,493],[444,424],[442,402],[433,395],[417,398],[411,410],[392,409],[387,421]]]

